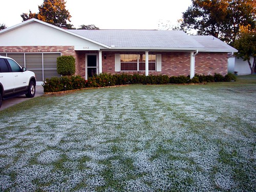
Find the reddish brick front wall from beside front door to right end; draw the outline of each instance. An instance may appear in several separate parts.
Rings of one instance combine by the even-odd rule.
[[[91,52],[77,52],[77,74],[85,77],[85,55]],[[102,52],[102,72],[103,73],[129,73],[145,74],[145,71],[121,71],[115,72],[115,53],[119,54],[145,54],[145,52]],[[104,54],[106,58],[104,59]],[[159,54],[159,52],[149,52],[149,54]],[[162,52],[162,71],[149,71],[149,74],[164,74],[168,76],[179,76],[190,74],[190,52]],[[198,53],[195,58],[195,73],[204,75],[214,75],[220,73],[227,74],[227,54],[226,53]]]

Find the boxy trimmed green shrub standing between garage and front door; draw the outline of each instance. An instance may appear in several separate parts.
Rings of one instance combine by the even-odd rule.
[[[73,56],[60,56],[57,58],[57,72],[60,75],[74,75],[76,72],[75,58]]]

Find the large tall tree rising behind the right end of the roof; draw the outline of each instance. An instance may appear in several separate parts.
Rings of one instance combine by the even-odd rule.
[[[195,29],[199,35],[212,35],[232,45],[241,25],[255,28],[253,0],[194,0],[183,13],[181,27],[185,32]]]

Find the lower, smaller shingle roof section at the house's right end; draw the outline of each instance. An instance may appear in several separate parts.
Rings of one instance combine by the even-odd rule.
[[[191,35],[205,47],[205,52],[237,52],[238,50],[225,44],[225,42],[211,35]]]

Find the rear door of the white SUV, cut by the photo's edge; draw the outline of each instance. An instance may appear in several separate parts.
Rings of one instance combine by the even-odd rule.
[[[0,83],[3,86],[3,96],[13,94],[14,92],[14,77],[9,68],[6,59],[0,58]]]

